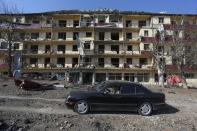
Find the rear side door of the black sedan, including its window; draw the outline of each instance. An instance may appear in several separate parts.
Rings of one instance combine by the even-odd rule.
[[[136,97],[136,87],[132,84],[126,83],[120,89],[122,103],[121,109],[124,111],[133,111],[137,109],[138,99]]]

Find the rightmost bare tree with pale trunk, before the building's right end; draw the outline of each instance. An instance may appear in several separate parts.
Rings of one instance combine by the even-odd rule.
[[[170,56],[182,78],[183,88],[187,88],[185,70],[197,66],[197,25],[189,23],[186,16],[182,16],[180,21],[180,24],[171,27],[173,39],[170,42]]]

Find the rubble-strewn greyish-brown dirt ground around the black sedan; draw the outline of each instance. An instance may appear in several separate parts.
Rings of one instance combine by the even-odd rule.
[[[65,107],[65,97],[86,86],[23,91],[13,80],[0,80],[0,131],[197,131],[197,89],[148,87],[165,93],[165,110],[148,117],[135,112],[78,115]]]

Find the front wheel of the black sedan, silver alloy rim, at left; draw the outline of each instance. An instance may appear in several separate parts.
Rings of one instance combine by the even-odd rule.
[[[74,106],[74,111],[79,114],[86,114],[89,111],[88,102],[85,100],[78,101]]]

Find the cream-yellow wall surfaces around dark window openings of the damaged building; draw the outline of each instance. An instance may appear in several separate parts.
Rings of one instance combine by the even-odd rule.
[[[139,65],[139,60],[140,58],[147,58],[148,59],[148,64],[149,66],[153,66],[154,60],[153,58],[150,58],[146,55],[142,55],[142,52],[145,50],[145,44],[149,44],[149,50],[153,48],[154,43],[145,43],[140,41],[141,37],[143,37],[144,31],[148,31],[148,36],[147,37],[154,37],[158,27],[161,24],[171,24],[172,17],[168,15],[149,15],[149,14],[144,14],[144,15],[121,15],[121,19],[119,23],[117,24],[116,27],[96,27],[96,25],[93,27],[93,23],[98,23],[98,17],[100,16],[105,16],[105,24],[109,25],[110,24],[110,15],[112,14],[95,14],[94,16],[94,22],[92,22],[91,26],[86,26],[86,27],[73,27],[74,20],[79,20],[80,21],[80,16],[91,16],[91,14],[56,14],[52,15],[54,16],[53,18],[53,24],[54,24],[54,29],[52,28],[41,28],[41,29],[32,29],[27,32],[39,32],[39,39],[37,40],[27,40],[28,49],[30,49],[30,45],[38,45],[38,54],[31,54],[28,52],[27,54],[24,54],[27,63],[29,63],[30,58],[38,58],[38,68],[44,68],[44,60],[45,58],[51,58],[51,63],[57,64],[57,59],[58,58],[65,58],[65,67],[72,67],[72,58],[79,58],[79,52],[78,51],[72,51],[73,45],[76,44],[76,41],[73,40],[73,32],[79,32],[79,38],[81,41],[98,41],[99,40],[99,33],[98,32],[105,32],[104,36],[104,41],[100,41],[100,44],[104,44],[105,50],[104,54],[92,54],[92,63],[94,61],[98,62],[98,58],[104,58],[104,68],[102,70],[98,70],[98,72],[104,72],[104,73],[134,73],[137,74],[138,72],[140,73],[148,73],[149,74],[149,82],[153,83],[154,82],[154,74],[155,70],[150,69],[146,66],[143,66],[143,68],[140,67],[134,67],[128,68],[128,71],[125,71],[124,63],[126,62],[127,58],[132,58],[132,65]],[[50,16],[50,17],[51,17]],[[43,17],[43,16],[42,16]],[[159,23],[159,18],[164,18],[163,23]],[[36,16],[32,18],[26,19],[25,17],[22,17],[21,22],[22,23],[32,23],[33,20],[36,19]],[[40,20],[40,24],[42,26],[46,26],[46,19],[41,19],[41,17],[38,15],[38,20]],[[69,28],[59,28],[59,20],[66,20],[67,25],[66,27]],[[122,20],[122,21],[121,21]],[[131,26],[126,27],[126,20],[131,20]],[[139,27],[139,21],[146,21],[146,26]],[[84,20],[87,21],[87,20]],[[193,23],[194,20],[189,20],[189,23]],[[196,20],[197,23],[197,20]],[[81,23],[79,22],[79,25]],[[99,23],[100,24],[100,23]],[[50,25],[50,24],[48,24]],[[124,27],[123,27],[124,25]],[[58,27],[58,28],[57,28]],[[91,28],[90,28],[91,27]],[[111,30],[110,30],[111,28]],[[154,28],[154,29],[153,29]],[[96,29],[96,30],[95,30]],[[100,29],[100,30],[99,30]],[[121,29],[121,30],[120,30]],[[51,32],[52,33],[52,40],[46,40],[46,32]],[[66,40],[60,40],[58,39],[58,32],[66,32]],[[92,37],[86,37],[86,32],[92,32]],[[119,40],[118,41],[111,41],[111,33],[112,32],[119,32]],[[130,32],[132,33],[132,39],[131,40],[126,40],[126,33]],[[167,30],[166,35],[172,35],[172,31]],[[180,37],[182,37],[183,32],[179,34]],[[46,43],[45,43],[46,42]],[[47,43],[48,42],[48,43]],[[45,45],[51,45],[51,49],[53,53],[51,54],[46,54],[45,53]],[[58,54],[57,52],[57,46],[58,45],[66,45],[66,52],[65,54],[61,53]],[[111,45],[119,45],[119,54],[117,52],[111,51]],[[127,46],[132,45],[132,51],[127,51]],[[20,43],[19,50],[23,49],[23,44]],[[91,51],[96,51],[98,50],[98,44],[94,43],[90,45],[90,50]],[[125,52],[126,51],[126,52]],[[147,51],[147,50],[146,50]],[[166,64],[172,64],[172,58],[168,56],[168,54],[171,51],[171,46],[166,45],[165,50],[164,50],[165,59],[166,59]],[[126,53],[126,55],[124,55]],[[111,64],[111,58],[119,58],[119,68],[114,69]],[[97,68],[96,68],[97,69]],[[105,70],[106,69],[106,70]],[[38,69],[39,70],[39,69]],[[62,68],[61,72],[64,72],[64,68]],[[97,70],[96,70],[97,71]],[[49,72],[53,72],[53,70],[49,70]],[[189,81],[193,81],[189,80]]]

